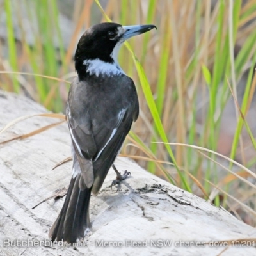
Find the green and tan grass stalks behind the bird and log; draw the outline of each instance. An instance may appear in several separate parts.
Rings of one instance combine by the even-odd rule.
[[[255,226],[254,0],[5,0],[0,12],[0,88],[54,113],[85,29],[155,24],[120,51],[140,97],[122,154]]]

